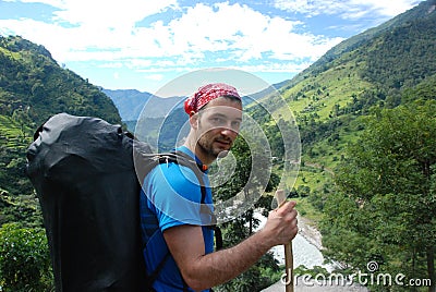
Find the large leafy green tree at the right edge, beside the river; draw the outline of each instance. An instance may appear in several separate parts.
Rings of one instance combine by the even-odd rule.
[[[368,119],[336,172],[339,192],[326,203],[329,256],[363,269],[375,259],[410,278],[426,273],[435,291],[435,100]]]

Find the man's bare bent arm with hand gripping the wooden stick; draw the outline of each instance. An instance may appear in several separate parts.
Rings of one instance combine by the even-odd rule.
[[[207,255],[201,227],[170,228],[164,236],[187,285],[204,290],[237,277],[272,246],[291,241],[298,232],[294,205],[289,202],[271,211],[265,227],[240,244]]]

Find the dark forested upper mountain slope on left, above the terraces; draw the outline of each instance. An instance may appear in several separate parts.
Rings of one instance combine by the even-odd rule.
[[[25,110],[36,124],[57,112],[120,122],[113,102],[100,89],[62,69],[43,46],[19,36],[0,37],[0,114]]]

